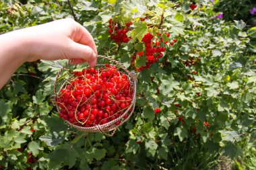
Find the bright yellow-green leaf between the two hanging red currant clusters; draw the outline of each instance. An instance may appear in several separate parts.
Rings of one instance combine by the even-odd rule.
[[[148,32],[148,24],[146,22],[135,22],[131,37],[141,42],[143,36]]]

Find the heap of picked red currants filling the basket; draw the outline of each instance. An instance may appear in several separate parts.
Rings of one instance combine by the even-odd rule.
[[[131,105],[133,89],[129,77],[116,66],[106,64],[98,69],[74,71],[73,75],[57,97],[59,116],[71,124],[106,124],[119,118]]]

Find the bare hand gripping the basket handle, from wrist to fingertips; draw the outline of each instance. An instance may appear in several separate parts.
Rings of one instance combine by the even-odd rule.
[[[73,19],[60,19],[20,30],[26,35],[28,61],[71,59],[73,64],[88,61],[96,65],[96,46],[91,34]]]

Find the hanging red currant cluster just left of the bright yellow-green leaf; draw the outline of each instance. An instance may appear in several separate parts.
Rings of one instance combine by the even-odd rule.
[[[122,42],[127,43],[131,40],[131,37],[128,37],[126,33],[131,30],[130,26],[133,24],[132,22],[127,22],[127,24],[125,24],[126,27],[124,28],[121,28],[120,24],[114,22],[113,19],[109,19],[108,24],[108,33],[112,40],[115,40],[118,44]]]

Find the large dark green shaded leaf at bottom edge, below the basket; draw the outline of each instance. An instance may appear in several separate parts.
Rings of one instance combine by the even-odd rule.
[[[59,169],[63,167],[63,165],[68,165],[69,168],[71,168],[75,165],[77,157],[79,157],[79,155],[69,144],[57,146],[53,153],[47,156],[49,159],[49,169]]]

